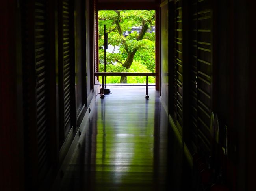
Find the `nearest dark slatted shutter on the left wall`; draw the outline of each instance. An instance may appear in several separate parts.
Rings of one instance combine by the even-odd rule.
[[[37,153],[39,172],[49,162],[49,53],[46,23],[46,1],[35,2],[35,69],[37,77]]]

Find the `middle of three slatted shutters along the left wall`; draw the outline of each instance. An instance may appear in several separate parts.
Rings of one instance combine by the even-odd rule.
[[[61,145],[73,126],[74,29],[73,1],[59,2],[59,96]]]

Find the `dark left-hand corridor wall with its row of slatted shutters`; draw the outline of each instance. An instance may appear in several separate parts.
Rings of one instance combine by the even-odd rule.
[[[49,189],[89,115],[91,2],[1,6],[1,190]]]

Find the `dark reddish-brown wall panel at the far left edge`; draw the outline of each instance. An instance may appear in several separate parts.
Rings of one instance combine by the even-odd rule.
[[[0,9],[0,189],[19,190],[24,188],[20,17],[15,0],[2,2]]]

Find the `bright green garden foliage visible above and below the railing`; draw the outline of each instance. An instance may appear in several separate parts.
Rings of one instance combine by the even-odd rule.
[[[99,11],[98,18],[99,59],[104,60],[104,25],[108,32],[108,44],[119,47],[119,53],[106,52],[107,71],[155,72],[155,33],[147,31],[144,36],[142,35],[142,40],[138,38],[139,34],[136,32],[126,37],[122,34],[131,31],[132,27],[154,26],[154,10]],[[126,63],[128,54],[134,54],[134,60],[130,62],[131,66]],[[104,65],[100,64],[100,71],[102,69],[104,70]],[[111,80],[111,82],[107,81],[108,83],[119,83],[120,77],[108,78]],[[153,83],[155,78],[150,77],[150,80]],[[128,83],[136,83],[135,81],[145,83],[145,77],[128,77]]]

